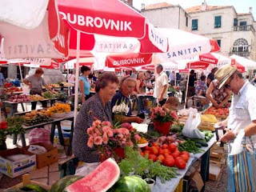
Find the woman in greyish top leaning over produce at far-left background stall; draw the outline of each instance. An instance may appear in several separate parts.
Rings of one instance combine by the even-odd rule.
[[[45,82],[45,80],[42,78],[42,74],[44,74],[42,68],[38,68],[35,70],[35,73],[30,75],[28,78],[25,78],[23,82],[30,86],[30,94],[38,94],[42,95],[42,86],[45,86],[47,90],[50,90],[51,92],[56,93],[54,90],[50,89],[50,86],[48,86]],[[42,107],[47,106],[47,102],[43,101]],[[31,110],[35,110],[37,106],[37,102],[31,102]]]

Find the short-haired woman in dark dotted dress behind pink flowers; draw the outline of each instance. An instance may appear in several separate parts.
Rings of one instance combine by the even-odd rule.
[[[110,100],[116,93],[118,77],[112,72],[105,72],[98,78],[95,94],[82,104],[74,126],[73,153],[74,157],[82,162],[99,162],[100,158],[95,153],[95,148],[87,146],[87,129],[92,126],[94,119],[112,123]]]

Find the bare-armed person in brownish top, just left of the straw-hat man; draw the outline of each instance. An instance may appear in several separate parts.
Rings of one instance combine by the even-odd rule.
[[[225,107],[231,97],[231,91],[222,86],[218,89],[220,82],[217,79],[210,82],[209,88],[206,90],[206,97],[213,103],[216,108]]]

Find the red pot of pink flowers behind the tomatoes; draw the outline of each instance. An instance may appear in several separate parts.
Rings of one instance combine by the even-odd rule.
[[[150,118],[154,122],[154,128],[160,134],[170,133],[170,126],[174,121],[178,121],[176,111],[169,110],[166,107],[157,106],[150,110]]]

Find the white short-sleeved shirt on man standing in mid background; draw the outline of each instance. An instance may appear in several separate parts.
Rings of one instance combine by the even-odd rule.
[[[155,79],[155,85],[154,85],[154,98],[159,98],[162,90],[163,90],[163,86],[168,86],[168,77],[167,74],[164,73],[163,71],[158,75],[158,77]],[[167,94],[167,90],[166,92],[163,94],[163,98],[168,98],[168,94]]]

